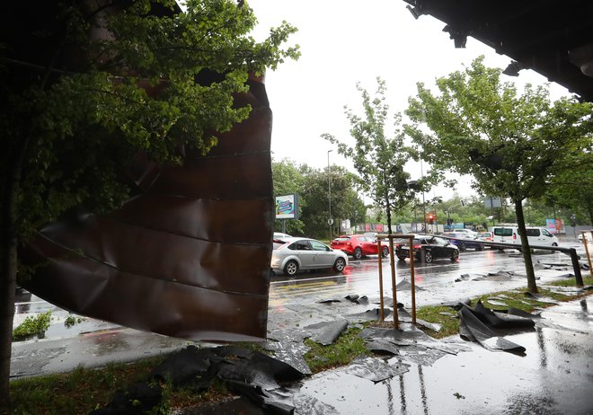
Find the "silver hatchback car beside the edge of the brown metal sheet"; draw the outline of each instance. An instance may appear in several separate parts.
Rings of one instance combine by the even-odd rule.
[[[315,239],[291,237],[277,241],[279,244],[272,251],[270,267],[288,276],[294,276],[299,269],[333,269],[342,272],[348,265],[348,255],[332,250]]]

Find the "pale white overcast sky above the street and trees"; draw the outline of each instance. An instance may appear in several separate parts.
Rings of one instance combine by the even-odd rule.
[[[475,57],[485,56],[487,66],[504,69],[510,58],[468,38],[465,49],[455,49],[443,32],[444,22],[423,15],[415,20],[403,0],[248,0],[260,22],[256,39],[270,27],[285,20],[298,28],[291,37],[300,45],[302,56],[288,61],[266,75],[266,90],[274,121],[271,149],[276,161],[283,158],[316,168],[330,163],[348,167],[351,163],[320,136],[330,133],[341,141],[353,142],[344,105],[361,109],[360,83],[371,94],[376,77],[386,81],[387,101],[392,114],[403,112],[408,97],[415,95],[416,83],[427,86],[435,79],[463,70]],[[521,71],[505,80],[544,84],[545,78],[533,71]],[[568,92],[552,85],[553,96]],[[426,166],[425,166],[426,168]],[[410,164],[412,179],[420,168]],[[472,193],[467,184],[458,191]],[[437,190],[445,194],[445,190]],[[448,190],[450,196],[450,190]]]

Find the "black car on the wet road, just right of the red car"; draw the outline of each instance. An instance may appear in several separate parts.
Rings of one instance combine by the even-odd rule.
[[[448,258],[449,260],[459,259],[459,248],[445,238],[430,234],[414,235],[412,249],[414,258],[426,263],[430,263],[438,258]],[[400,239],[395,243],[395,255],[399,260],[410,258],[410,240]]]

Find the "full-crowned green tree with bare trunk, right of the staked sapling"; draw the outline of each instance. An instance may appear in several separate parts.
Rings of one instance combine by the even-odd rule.
[[[500,81],[500,70],[474,60],[465,71],[437,80],[438,94],[418,84],[409,100],[409,126],[424,160],[439,169],[469,174],[482,194],[509,198],[515,207],[530,292],[537,292],[525,231],[523,200],[550,189],[566,158],[590,145],[593,107],[527,85],[518,94]],[[423,127],[432,132],[426,133]]]

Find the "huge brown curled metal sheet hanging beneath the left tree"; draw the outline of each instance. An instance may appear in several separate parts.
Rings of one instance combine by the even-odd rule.
[[[261,80],[249,119],[180,166],[139,158],[142,192],[83,226],[40,231],[24,285],[73,313],[190,340],[266,335],[272,234],[271,111]]]

